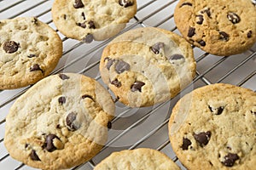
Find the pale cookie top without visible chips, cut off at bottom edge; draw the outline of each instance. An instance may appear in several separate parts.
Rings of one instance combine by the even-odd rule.
[[[179,170],[168,156],[158,150],[139,148],[113,152],[94,168],[95,170]]]

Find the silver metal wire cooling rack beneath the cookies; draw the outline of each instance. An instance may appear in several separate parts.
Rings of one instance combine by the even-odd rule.
[[[63,56],[52,74],[60,72],[78,72],[94,77],[102,83],[98,65],[102,49],[111,41],[84,44],[64,37],[56,30],[51,19],[53,1],[9,0],[0,1],[0,20],[19,16],[36,16],[57,31],[62,39]],[[126,26],[124,31],[136,27],[155,26],[173,32],[177,31],[173,20],[173,11],[177,0],[138,0],[137,14]],[[123,32],[124,32],[123,31]],[[185,169],[172,151],[168,139],[167,123],[172,107],[183,94],[195,88],[212,83],[224,82],[256,90],[256,44],[243,54],[219,57],[207,54],[195,48],[197,63],[196,77],[192,83],[170,101],[152,107],[132,109],[116,100],[116,116],[109,129],[109,139],[102,151],[88,162],[72,169],[93,169],[113,151],[148,147],[164,152],[182,169]],[[103,86],[105,86],[102,83]],[[19,161],[13,160],[3,145],[5,117],[10,106],[21,94],[30,87],[0,91],[0,169],[34,169]],[[107,88],[105,86],[105,88]],[[111,93],[111,92],[110,92]]]

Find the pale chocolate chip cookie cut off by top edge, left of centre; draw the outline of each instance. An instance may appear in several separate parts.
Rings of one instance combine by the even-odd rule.
[[[136,12],[136,0],[55,0],[52,7],[58,30],[82,42],[113,37]]]

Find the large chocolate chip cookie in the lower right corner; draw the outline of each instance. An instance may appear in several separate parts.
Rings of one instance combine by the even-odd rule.
[[[255,169],[256,93],[213,84],[185,95],[169,122],[172,149],[188,169]]]

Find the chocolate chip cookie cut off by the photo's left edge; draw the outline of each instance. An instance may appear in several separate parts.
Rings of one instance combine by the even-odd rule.
[[[38,82],[55,69],[61,55],[60,37],[37,18],[0,20],[0,89]]]

